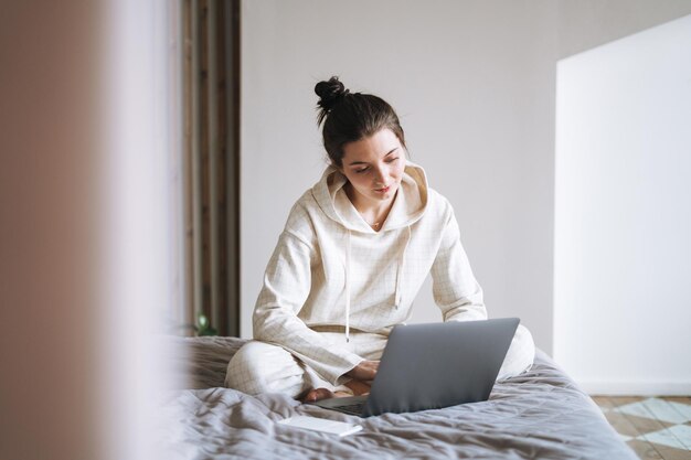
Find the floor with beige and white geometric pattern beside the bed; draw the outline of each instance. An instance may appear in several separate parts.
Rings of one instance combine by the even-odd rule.
[[[593,396],[644,460],[691,460],[691,397]]]

